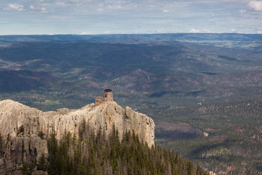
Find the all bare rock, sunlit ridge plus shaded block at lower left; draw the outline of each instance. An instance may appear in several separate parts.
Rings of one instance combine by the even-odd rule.
[[[125,131],[133,131],[141,141],[154,145],[154,121],[144,114],[133,111],[130,107],[123,109],[114,101],[90,104],[81,109],[62,108],[43,112],[36,108],[22,105],[12,100],[0,102],[0,133],[6,140],[7,149],[0,159],[4,166],[35,163],[41,155],[48,157],[47,141],[38,135],[49,136],[53,131],[57,139],[70,132],[76,137],[80,134],[82,123],[88,124],[95,134],[102,130],[106,136],[117,128],[119,139]],[[16,156],[14,156],[16,155]]]

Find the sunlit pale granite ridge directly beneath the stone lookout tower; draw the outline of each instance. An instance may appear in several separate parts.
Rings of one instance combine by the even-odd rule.
[[[10,134],[11,137],[16,137],[22,134],[31,137],[39,132],[49,135],[52,130],[56,132],[58,139],[65,131],[78,136],[83,121],[95,133],[101,128],[109,135],[115,125],[120,139],[125,130],[133,130],[140,140],[147,142],[149,146],[154,145],[154,121],[144,114],[132,111],[130,107],[123,109],[115,102],[96,106],[90,104],[77,110],[63,108],[48,112],[12,100],[0,102],[0,133],[3,136]]]

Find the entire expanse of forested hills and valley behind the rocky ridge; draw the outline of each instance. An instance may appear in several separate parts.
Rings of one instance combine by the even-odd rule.
[[[1,100],[80,108],[112,88],[157,143],[217,174],[262,172],[262,35],[4,35],[0,69]]]

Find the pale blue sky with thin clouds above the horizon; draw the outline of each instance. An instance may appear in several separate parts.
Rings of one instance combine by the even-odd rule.
[[[262,34],[262,0],[0,0],[0,35]]]

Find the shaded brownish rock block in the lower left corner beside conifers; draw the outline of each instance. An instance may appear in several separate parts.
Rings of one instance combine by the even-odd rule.
[[[37,136],[25,137],[19,135],[19,137],[13,137],[7,143],[3,157],[0,158],[0,174],[25,174],[27,170],[24,170],[24,163],[26,163],[26,165],[34,165],[26,174],[47,175],[47,172],[37,171],[35,167],[42,156],[47,162],[49,157],[47,140],[42,140]]]

